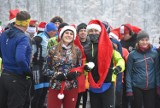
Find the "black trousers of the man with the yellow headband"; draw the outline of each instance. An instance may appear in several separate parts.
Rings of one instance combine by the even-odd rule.
[[[0,108],[26,108],[28,81],[19,75],[3,72],[0,77]]]

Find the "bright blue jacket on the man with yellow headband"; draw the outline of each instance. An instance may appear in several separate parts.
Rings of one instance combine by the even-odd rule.
[[[4,70],[16,74],[30,72],[31,46],[29,42],[29,37],[14,26],[2,33],[0,53]]]

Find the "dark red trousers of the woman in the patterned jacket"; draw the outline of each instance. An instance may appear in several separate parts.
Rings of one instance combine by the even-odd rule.
[[[75,108],[78,91],[77,88],[71,90],[64,90],[64,98],[62,100],[58,99],[57,95],[60,90],[53,90],[49,88],[48,92],[48,108],[61,108],[63,104],[63,108]]]

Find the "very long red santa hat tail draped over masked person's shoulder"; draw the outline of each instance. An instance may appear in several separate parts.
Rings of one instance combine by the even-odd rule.
[[[96,83],[92,77],[91,72],[88,74],[90,86],[93,88],[100,88],[104,83],[106,76],[108,75],[108,69],[110,67],[113,47],[109,39],[108,33],[104,25],[99,20],[91,20],[89,24],[98,24],[101,27],[101,33],[98,42],[98,74],[99,80]],[[89,25],[88,24],[88,25]]]

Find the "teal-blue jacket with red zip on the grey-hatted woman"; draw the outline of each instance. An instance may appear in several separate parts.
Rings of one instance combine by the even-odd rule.
[[[132,51],[128,56],[126,70],[126,89],[133,92],[132,87],[144,90],[160,86],[160,70],[158,53],[151,49],[147,53]]]

